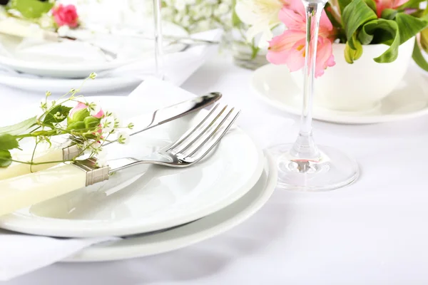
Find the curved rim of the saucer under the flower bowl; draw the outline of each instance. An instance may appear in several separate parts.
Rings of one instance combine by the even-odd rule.
[[[275,65],[273,65],[272,63],[267,63],[264,66],[260,66],[260,68],[257,68],[254,71],[250,79],[251,88],[253,89],[254,93],[257,95],[257,97],[260,100],[263,100],[263,102],[267,103],[273,108],[276,108],[277,110],[285,111],[292,115],[301,115],[300,110],[297,110],[296,108],[293,108],[290,105],[286,105],[285,103],[279,100],[271,100],[270,98],[267,97],[267,95],[265,95],[261,90],[259,90],[258,87],[256,87],[257,83],[255,83],[255,81],[257,80],[256,78],[257,76],[259,76],[259,73],[263,72],[264,69],[271,68],[272,66],[275,66]],[[418,76],[421,77],[421,75],[417,71],[413,71],[413,72],[417,73]],[[424,91],[424,93],[425,93],[424,94],[425,97],[428,98],[427,91]],[[340,124],[349,124],[349,125],[367,125],[367,124],[387,123],[387,122],[394,122],[398,120],[409,120],[412,118],[417,118],[422,115],[428,114],[428,106],[422,110],[417,110],[415,112],[407,113],[404,115],[372,115],[372,116],[366,116],[366,117],[360,117],[358,113],[355,113],[355,115],[340,115],[339,114],[340,111],[336,111],[336,110],[327,110],[327,111],[331,112],[331,115],[320,114],[317,112],[317,109],[314,108],[313,118],[315,120],[320,120],[320,121],[329,122],[329,123],[340,123]]]

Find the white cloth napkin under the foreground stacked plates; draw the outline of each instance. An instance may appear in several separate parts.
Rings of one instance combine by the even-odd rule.
[[[130,105],[144,106],[145,110],[156,110],[161,106],[178,103],[194,96],[172,83],[149,78],[123,100],[127,100],[127,104]],[[227,97],[228,95],[223,94],[222,101],[227,103]],[[136,114],[130,114],[130,116],[132,115]],[[290,119],[278,116],[266,117],[253,114],[252,118],[253,120],[247,120],[244,128],[261,147],[270,145],[277,134],[283,133],[283,130],[290,128],[293,123]],[[0,281],[6,281],[61,261],[93,244],[116,239],[119,238],[56,239],[0,231]]]

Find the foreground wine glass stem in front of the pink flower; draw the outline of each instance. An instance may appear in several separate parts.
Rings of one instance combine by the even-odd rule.
[[[303,108],[300,132],[290,154],[297,160],[317,160],[320,152],[312,138],[312,99],[317,58],[320,18],[325,2],[302,0],[306,11],[305,67],[303,77]]]

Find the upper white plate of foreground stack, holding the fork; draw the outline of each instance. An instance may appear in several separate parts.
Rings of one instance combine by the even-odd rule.
[[[141,113],[123,98],[97,97],[119,118]],[[88,99],[91,100],[91,99]],[[168,145],[207,113],[185,116],[131,138],[130,145],[108,147],[108,159],[143,157]],[[185,168],[141,165],[124,180],[86,187],[0,218],[0,227],[53,237],[123,236],[153,232],[195,221],[217,212],[245,195],[263,171],[263,152],[240,128],[197,165]]]

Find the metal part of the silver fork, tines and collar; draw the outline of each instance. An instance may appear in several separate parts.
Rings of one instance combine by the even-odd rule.
[[[178,140],[143,159],[118,158],[109,160],[106,167],[97,168],[96,159],[90,158],[75,165],[86,171],[86,186],[108,180],[113,173],[135,165],[155,164],[168,167],[193,165],[208,155],[210,150],[220,142],[240,114],[240,110],[229,108],[228,105],[223,108],[218,107],[219,104],[216,104],[200,123]]]

